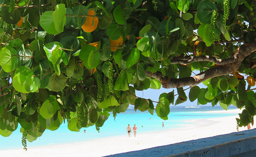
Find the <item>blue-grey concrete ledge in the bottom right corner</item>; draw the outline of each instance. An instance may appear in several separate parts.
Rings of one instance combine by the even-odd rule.
[[[256,129],[106,157],[256,157]]]

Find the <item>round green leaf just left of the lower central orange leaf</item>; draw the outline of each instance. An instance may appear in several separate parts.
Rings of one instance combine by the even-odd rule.
[[[101,61],[101,54],[96,47],[87,45],[81,49],[79,58],[83,61],[85,67],[94,69]]]

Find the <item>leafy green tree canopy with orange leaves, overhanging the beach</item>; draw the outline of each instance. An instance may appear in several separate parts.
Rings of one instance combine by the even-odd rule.
[[[25,149],[129,104],[165,120],[171,104],[235,105],[254,123],[255,0],[0,0],[0,15],[0,135],[20,124]],[[176,90],[156,108],[135,94],[161,86]]]

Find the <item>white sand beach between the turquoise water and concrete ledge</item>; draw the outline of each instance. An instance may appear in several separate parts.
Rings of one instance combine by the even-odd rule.
[[[234,112],[241,113],[239,109],[229,111],[210,111],[210,112]],[[237,116],[224,118],[210,118],[204,120],[189,120],[189,124],[181,124],[180,128],[166,131],[153,131],[140,133],[131,137],[116,136],[105,137],[91,141],[54,144],[40,147],[28,147],[28,150],[0,150],[1,157],[102,157],[122,152],[142,150],[156,146],[167,144],[175,144],[178,142],[189,141],[204,137],[212,137],[216,135],[236,132]],[[104,126],[103,126],[104,127]],[[256,128],[251,126],[251,129]],[[239,131],[247,130],[247,127],[239,128]]]

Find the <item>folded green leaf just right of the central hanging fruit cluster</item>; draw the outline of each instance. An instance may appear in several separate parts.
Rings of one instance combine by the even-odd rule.
[[[129,87],[128,87],[127,72],[121,71],[121,74],[116,79],[114,90],[116,90],[116,91],[127,91],[128,89],[129,89]]]

